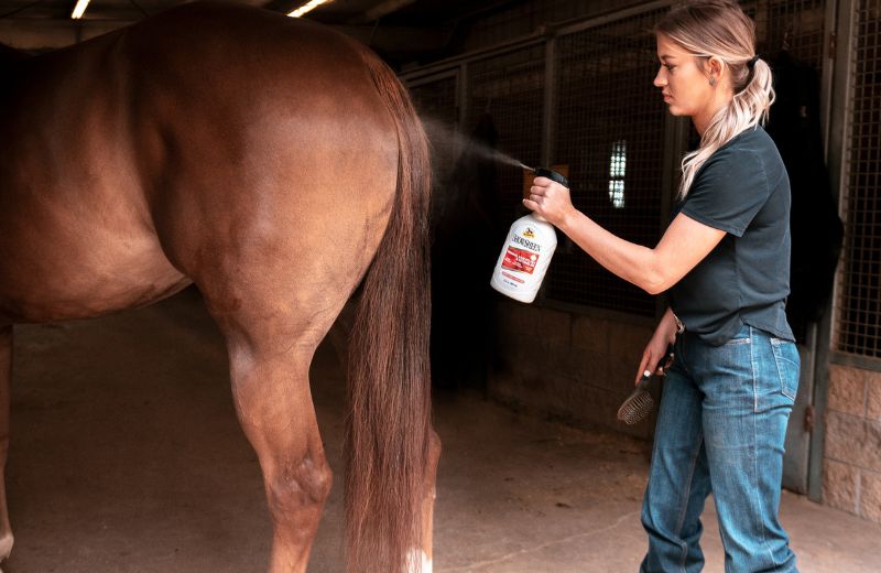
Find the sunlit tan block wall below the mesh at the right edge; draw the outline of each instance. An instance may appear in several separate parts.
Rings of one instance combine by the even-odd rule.
[[[881,523],[881,372],[829,365],[823,501]]]

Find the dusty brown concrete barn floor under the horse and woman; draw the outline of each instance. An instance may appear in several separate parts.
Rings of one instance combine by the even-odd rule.
[[[17,327],[6,573],[261,572],[270,525],[226,355],[192,291],[99,321]],[[339,472],[342,377],[313,389]],[[436,572],[637,571],[646,445],[438,396]],[[311,572],[339,572],[337,478]],[[706,571],[722,571],[708,504]],[[803,573],[878,571],[881,526],[784,494]]]

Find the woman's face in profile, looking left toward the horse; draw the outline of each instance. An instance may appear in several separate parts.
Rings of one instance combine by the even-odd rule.
[[[713,71],[705,68],[708,61],[686,52],[665,34],[659,33],[656,39],[661,68],[654,85],[661,88],[670,112],[694,118],[695,125],[711,118],[717,109],[716,87],[710,85]]]

